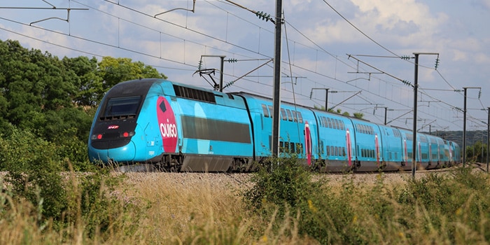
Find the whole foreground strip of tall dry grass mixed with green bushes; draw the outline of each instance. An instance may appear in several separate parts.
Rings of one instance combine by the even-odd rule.
[[[0,243],[489,244],[490,181],[470,168],[367,183],[280,166],[246,186],[219,174],[73,173],[63,225],[3,180]]]

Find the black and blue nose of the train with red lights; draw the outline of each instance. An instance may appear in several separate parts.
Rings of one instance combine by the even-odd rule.
[[[141,161],[141,143],[145,137],[139,120],[144,120],[144,101],[154,79],[119,83],[107,92],[95,114],[88,140],[90,161],[107,164]],[[139,119],[141,118],[141,119]]]

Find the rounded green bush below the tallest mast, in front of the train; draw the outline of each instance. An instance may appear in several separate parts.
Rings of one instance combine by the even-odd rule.
[[[323,197],[323,182],[313,181],[311,169],[298,164],[297,158],[274,158],[265,166],[251,177],[253,187],[242,193],[246,205],[263,215],[265,222],[274,220],[276,229],[288,223],[291,212],[300,235],[317,238],[322,229],[315,217],[316,205]]]

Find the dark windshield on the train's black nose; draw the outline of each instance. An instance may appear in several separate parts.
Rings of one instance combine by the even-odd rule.
[[[104,117],[135,116],[140,102],[141,96],[109,99]]]

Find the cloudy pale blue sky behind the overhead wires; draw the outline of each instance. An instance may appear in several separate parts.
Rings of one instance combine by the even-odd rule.
[[[193,3],[2,1],[0,40],[18,40],[25,48],[59,58],[129,57],[169,80],[209,89],[219,83],[223,57],[224,92],[272,97],[274,23],[255,13],[275,20],[276,1]],[[466,129],[486,130],[490,0],[282,4],[283,101],[325,106],[327,100],[328,108],[342,113],[363,113],[373,123],[386,120],[412,130],[417,80],[417,130],[463,130],[465,102]],[[216,70],[200,76],[199,67]]]

